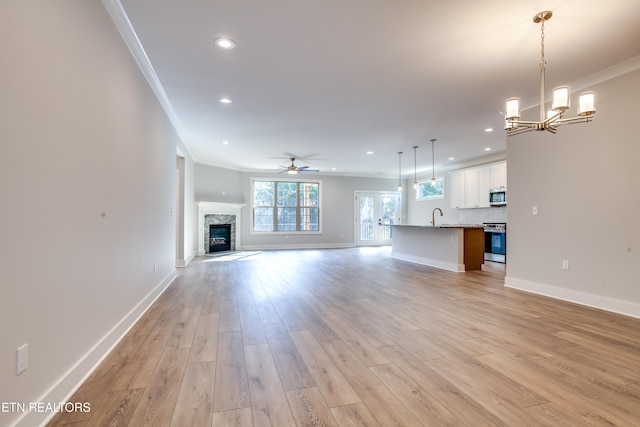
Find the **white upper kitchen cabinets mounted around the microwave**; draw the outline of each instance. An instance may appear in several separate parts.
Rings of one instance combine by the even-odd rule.
[[[507,163],[451,173],[451,208],[488,208],[489,190],[507,186]]]

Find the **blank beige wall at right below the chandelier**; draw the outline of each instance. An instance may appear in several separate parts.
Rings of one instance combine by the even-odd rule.
[[[593,89],[592,123],[507,142],[506,284],[640,317],[640,71]]]

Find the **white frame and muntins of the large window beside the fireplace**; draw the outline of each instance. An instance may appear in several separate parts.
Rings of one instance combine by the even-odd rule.
[[[260,230],[255,230],[255,209],[256,207],[261,207],[261,206],[255,206],[254,202],[255,202],[255,194],[254,194],[254,188],[255,188],[255,183],[256,182],[272,182],[273,183],[273,206],[270,206],[271,208],[273,208],[272,211],[272,215],[275,217],[274,218],[274,230],[269,230],[269,231],[260,231]],[[295,226],[296,226],[296,230],[277,230],[277,215],[278,215],[278,208],[291,208],[293,206],[278,206],[278,199],[277,199],[277,192],[278,192],[278,183],[279,182],[285,182],[285,183],[295,183],[297,186],[296,189],[296,206],[295,206],[295,211],[296,211],[296,222],[295,222]],[[303,206],[300,204],[300,184],[304,184],[304,183],[312,183],[312,184],[317,184],[318,185],[318,205],[317,206]],[[297,178],[297,179],[291,179],[288,177],[279,179],[279,178],[261,178],[261,177],[253,177],[251,178],[251,185],[250,185],[250,191],[249,191],[249,198],[250,198],[250,204],[249,204],[249,208],[250,208],[250,233],[251,235],[260,235],[260,236],[265,236],[265,235],[282,235],[282,234],[297,234],[297,235],[301,235],[301,234],[323,234],[322,232],[322,222],[323,222],[323,212],[322,212],[322,199],[323,199],[323,186],[322,186],[322,180],[320,179],[301,179],[301,178]],[[300,224],[301,224],[301,212],[304,208],[318,208],[318,230],[298,230],[298,228],[300,228]]]

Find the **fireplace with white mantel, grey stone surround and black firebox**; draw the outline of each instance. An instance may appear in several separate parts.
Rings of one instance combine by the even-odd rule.
[[[245,205],[233,203],[198,203],[198,255],[242,249],[240,213],[243,206]]]

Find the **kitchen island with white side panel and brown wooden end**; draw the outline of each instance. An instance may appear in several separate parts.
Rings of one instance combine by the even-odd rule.
[[[481,270],[484,226],[394,225],[391,257],[449,271]]]

